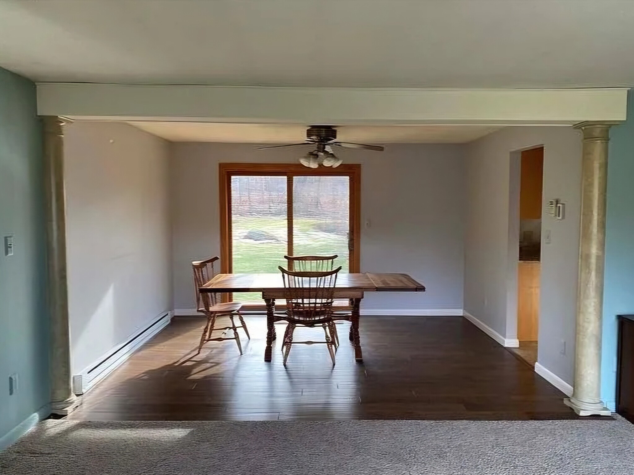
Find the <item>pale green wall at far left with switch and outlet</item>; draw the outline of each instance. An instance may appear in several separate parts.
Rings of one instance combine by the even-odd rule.
[[[8,234],[11,257],[4,256]],[[46,415],[49,403],[44,245],[36,87],[0,68],[0,449]],[[10,396],[15,373],[18,391]]]

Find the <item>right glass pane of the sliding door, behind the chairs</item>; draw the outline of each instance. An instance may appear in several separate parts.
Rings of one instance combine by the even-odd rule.
[[[347,176],[293,178],[293,254],[337,254],[335,268],[349,271],[350,185]]]

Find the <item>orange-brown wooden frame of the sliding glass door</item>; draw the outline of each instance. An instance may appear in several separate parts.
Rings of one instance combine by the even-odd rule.
[[[350,230],[353,250],[349,256],[349,272],[359,272],[361,258],[361,165],[308,168],[301,164],[221,163],[218,164],[220,203],[220,271],[231,273],[231,177],[232,176],[348,176],[350,178]],[[290,180],[287,181],[290,183]],[[292,194],[287,197],[292,204]],[[290,210],[292,212],[292,210]],[[291,216],[292,223],[292,216]],[[289,228],[292,229],[292,228]],[[291,233],[289,233],[291,234]],[[292,236],[290,236],[292,242]]]

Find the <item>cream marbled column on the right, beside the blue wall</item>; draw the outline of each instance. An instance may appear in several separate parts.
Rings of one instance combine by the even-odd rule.
[[[573,397],[564,400],[579,415],[610,415],[600,398],[605,190],[607,143],[612,124],[581,122],[583,133],[581,237]]]

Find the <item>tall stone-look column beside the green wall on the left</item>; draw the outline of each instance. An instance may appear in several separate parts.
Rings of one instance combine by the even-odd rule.
[[[76,407],[70,382],[70,327],[66,279],[66,197],[62,126],[56,115],[44,121],[44,193],[46,200],[47,297],[51,343],[51,410],[66,415]]]

